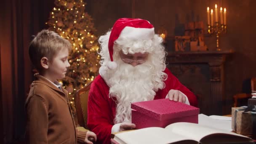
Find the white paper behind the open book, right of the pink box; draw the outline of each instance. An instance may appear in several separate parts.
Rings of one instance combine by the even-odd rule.
[[[218,119],[214,119],[212,117],[216,117]],[[209,126],[209,127],[212,127],[212,128],[218,128],[218,129],[221,129],[221,130],[224,130],[224,131],[232,131],[232,121],[229,119],[231,117],[223,117],[223,116],[207,116],[207,115],[203,115],[203,114],[199,114],[198,115],[198,124],[199,125],[205,125],[205,126]],[[220,118],[226,118],[224,120],[220,120]]]

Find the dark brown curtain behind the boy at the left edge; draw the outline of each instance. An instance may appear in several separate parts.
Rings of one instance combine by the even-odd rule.
[[[28,46],[32,35],[47,28],[54,0],[1,0],[0,2],[0,143],[23,141],[24,104],[33,80]],[[1,90],[1,89],[0,89]]]

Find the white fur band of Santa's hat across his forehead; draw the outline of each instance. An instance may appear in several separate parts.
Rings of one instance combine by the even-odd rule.
[[[136,28],[136,27],[125,27],[120,33],[119,37],[126,37],[131,39],[150,40],[155,35],[154,27],[148,28]]]

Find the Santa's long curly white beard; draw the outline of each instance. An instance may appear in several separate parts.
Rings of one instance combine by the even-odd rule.
[[[109,96],[117,99],[114,123],[131,122],[131,103],[153,100],[155,91],[163,88],[161,69],[156,69],[147,61],[133,67],[117,60],[117,68],[109,69],[104,80],[109,85]]]

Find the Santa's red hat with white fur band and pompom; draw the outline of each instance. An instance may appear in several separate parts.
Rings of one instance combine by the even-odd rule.
[[[109,69],[115,69],[117,64],[113,61],[113,45],[118,37],[126,37],[135,40],[150,40],[154,37],[154,26],[144,19],[118,19],[112,27],[109,36],[109,56],[110,60],[107,63]]]

